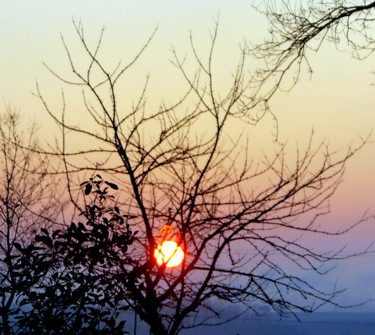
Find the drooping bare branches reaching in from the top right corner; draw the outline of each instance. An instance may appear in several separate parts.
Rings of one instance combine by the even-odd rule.
[[[317,52],[324,41],[338,48],[346,44],[357,59],[365,59],[375,50],[374,1],[269,0],[256,8],[270,24],[270,37],[248,49],[254,57],[265,61],[258,78],[261,86],[267,86],[262,91],[264,99],[273,95],[288,74],[290,89],[298,81],[303,66],[312,72],[308,54]]]

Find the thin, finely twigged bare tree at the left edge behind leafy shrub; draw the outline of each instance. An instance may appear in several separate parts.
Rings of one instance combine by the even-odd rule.
[[[31,280],[20,275],[16,255],[59,213],[58,188],[47,174],[50,159],[33,152],[38,148],[37,129],[35,124],[22,129],[20,119],[10,106],[0,115],[0,329],[4,334],[10,333],[9,316]]]

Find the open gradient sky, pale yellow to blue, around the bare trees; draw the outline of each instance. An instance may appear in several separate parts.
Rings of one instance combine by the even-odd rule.
[[[219,39],[216,66],[225,75],[235,68],[239,45],[243,39],[260,41],[267,34],[267,23],[251,8],[248,0],[140,0],[140,1],[1,1],[0,2],[0,94],[3,100],[19,108],[27,118],[35,117],[48,135],[48,120],[40,102],[32,96],[38,81],[53,107],[60,104],[61,83],[43,67],[48,63],[57,72],[65,73],[67,59],[60,40],[62,33],[72,50],[78,45],[72,17],[82,21],[90,41],[95,41],[106,26],[103,59],[116,64],[131,59],[158,26],[150,48],[136,66],[130,95],[142,87],[151,74],[149,98],[178,94],[180,81],[170,64],[170,48],[181,55],[189,50],[189,31],[196,38],[198,50],[207,51],[208,32],[219,15]],[[341,49],[345,49],[345,45]],[[317,138],[326,138],[332,148],[345,148],[358,143],[375,126],[375,75],[373,57],[367,61],[351,58],[326,44],[319,54],[311,54],[314,70],[311,79],[303,73],[301,81],[290,93],[278,93],[272,108],[279,119],[280,138],[289,143],[305,143],[306,134],[314,127]],[[219,76],[219,78],[221,78]],[[219,79],[220,80],[220,79]],[[219,86],[221,83],[218,83]],[[75,102],[71,102],[75,106]],[[1,108],[5,108],[5,104]],[[375,140],[375,134],[372,136]],[[348,225],[360,218],[366,209],[375,212],[375,145],[369,144],[348,164],[345,180],[332,200],[332,214],[326,220],[335,226]],[[350,249],[374,240],[374,221],[363,225],[346,237]],[[335,241],[341,245],[342,241]],[[341,243],[341,244],[340,244]],[[329,275],[339,278],[350,291],[343,301],[354,303],[369,296],[375,299],[375,256],[360,257],[338,266]],[[368,289],[366,289],[366,287]],[[375,303],[366,308],[375,310]]]

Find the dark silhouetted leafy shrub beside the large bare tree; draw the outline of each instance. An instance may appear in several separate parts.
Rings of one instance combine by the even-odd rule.
[[[30,245],[16,244],[19,301],[13,310],[18,334],[124,334],[124,293],[116,286],[134,235],[116,206],[107,206],[101,176],[83,183],[93,195],[82,215],[85,224],[41,229]],[[121,264],[120,264],[121,263]]]

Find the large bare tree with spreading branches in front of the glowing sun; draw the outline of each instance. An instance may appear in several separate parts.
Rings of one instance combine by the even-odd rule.
[[[36,95],[62,130],[62,141],[51,154],[64,162],[76,206],[85,210],[74,190],[88,175],[99,172],[119,185],[115,205],[138,233],[127,262],[118,258],[116,266],[101,271],[110,273],[113,285],[123,292],[123,303],[158,335],[213,322],[220,313],[212,304],[215,299],[254,310],[257,304],[267,304],[280,314],[336,304],[340,290],[323,292],[289,272],[287,264],[324,274],[327,264],[345,258],[342,250],[315,250],[306,241],[311,235],[345,234],[368,219],[341,230],[322,226],[320,220],[329,212],[328,200],[340,184],[347,160],[366,140],[340,154],[325,143],[315,145],[311,136],[291,164],[285,146],[257,162],[246,133],[250,127],[236,135],[230,126],[238,119],[257,124],[265,110],[256,109],[259,101],[254,100],[254,78],[245,75],[244,52],[228,91],[217,91],[213,66],[217,25],[207,57],[198,54],[191,38],[195,73],[173,50],[187,90],[176,103],[163,102],[151,111],[146,105],[148,78],[134,105],[119,107],[119,83],[151,39],[129,64],[108,70],[98,57],[103,31],[90,48],[82,26],[74,26],[89,60],[87,67],[76,65],[62,39],[73,79],[49,70],[64,83],[82,88],[79,112],[87,113],[85,125],[67,120],[65,102],[62,116],[54,112],[39,86]],[[73,134],[84,148],[71,149]],[[83,184],[87,194],[92,192],[89,185]],[[165,259],[157,263],[155,250],[165,239],[176,241],[184,251],[179,266],[169,268]],[[245,252],[238,254],[239,248]]]

